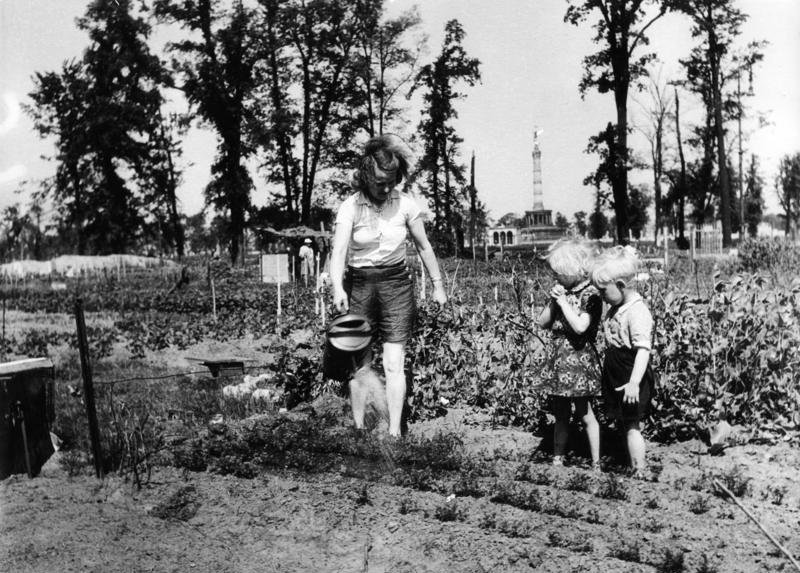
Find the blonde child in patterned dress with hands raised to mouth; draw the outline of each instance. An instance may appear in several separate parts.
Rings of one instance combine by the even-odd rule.
[[[553,351],[546,371],[551,407],[556,418],[553,465],[564,463],[572,409],[589,439],[592,467],[600,469],[600,428],[591,400],[600,394],[600,364],[595,348],[603,313],[600,294],[589,281],[597,249],[585,240],[561,240],[548,250],[547,264],[555,275],[550,301],[539,326],[552,331]]]

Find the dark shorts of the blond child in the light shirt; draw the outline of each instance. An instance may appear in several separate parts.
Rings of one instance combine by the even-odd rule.
[[[648,364],[642,381],[639,383],[639,402],[625,403],[625,393],[617,388],[628,383],[635,359],[635,348],[608,346],[603,360],[603,375],[600,384],[603,390],[606,414],[626,425],[638,424],[647,417],[655,390],[653,371]]]

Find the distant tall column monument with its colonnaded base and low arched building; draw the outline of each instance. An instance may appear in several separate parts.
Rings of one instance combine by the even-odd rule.
[[[519,226],[497,226],[486,229],[485,241],[490,246],[546,245],[561,238],[563,231],[553,225],[553,212],[544,208],[542,189],[542,152],[539,131],[533,132],[533,210],[525,211]]]

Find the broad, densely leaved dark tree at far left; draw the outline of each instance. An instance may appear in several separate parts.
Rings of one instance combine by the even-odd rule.
[[[77,25],[89,47],[61,73],[36,74],[27,111],[42,137],[56,137],[51,195],[76,226],[78,252],[127,252],[141,244],[147,219],[162,216],[170,191],[157,181],[176,178],[158,157],[167,141],[176,149],[161,115],[168,77],[130,0],[95,0]]]

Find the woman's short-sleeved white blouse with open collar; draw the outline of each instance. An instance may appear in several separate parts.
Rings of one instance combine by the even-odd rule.
[[[408,224],[421,212],[411,197],[396,189],[380,207],[363,193],[345,199],[336,215],[336,224],[352,222],[348,264],[374,267],[405,262]]]

